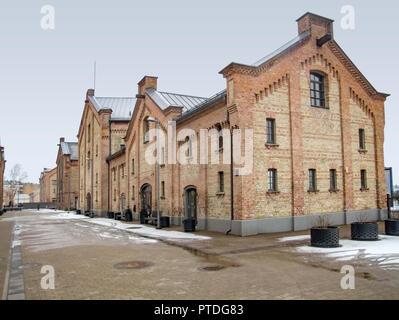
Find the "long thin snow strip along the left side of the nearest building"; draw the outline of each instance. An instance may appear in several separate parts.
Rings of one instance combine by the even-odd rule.
[[[38,213],[42,212],[42,210],[38,211]],[[54,211],[51,211],[54,213]],[[112,220],[106,218],[89,218],[85,215],[78,215],[75,212],[65,212],[58,211],[54,215],[43,216],[45,219],[80,219],[84,220],[84,222],[101,225],[105,227],[114,228],[117,230],[123,230],[130,233],[134,233],[141,237],[148,237],[152,239],[164,239],[164,240],[174,240],[174,241],[185,241],[185,240],[209,240],[210,237],[200,236],[192,233],[180,232],[180,231],[169,231],[163,229],[156,229],[154,227],[149,227],[145,225],[135,225],[135,224],[127,224],[123,223],[119,220]],[[134,229],[132,229],[134,227]],[[94,229],[94,228],[93,228]],[[95,230],[95,229],[94,229]],[[103,235],[103,237],[107,237],[109,235]]]

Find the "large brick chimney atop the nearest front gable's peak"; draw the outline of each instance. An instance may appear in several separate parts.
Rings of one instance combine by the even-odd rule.
[[[309,30],[311,35],[316,38],[321,38],[326,34],[331,34],[331,38],[333,38],[334,20],[307,12],[296,21],[298,23],[298,34]]]

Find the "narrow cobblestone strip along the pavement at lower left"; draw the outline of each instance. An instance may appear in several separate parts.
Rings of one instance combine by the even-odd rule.
[[[11,245],[12,254],[7,300],[25,300],[24,270],[20,268],[22,266],[21,241],[19,239],[20,232],[20,226],[15,224]]]

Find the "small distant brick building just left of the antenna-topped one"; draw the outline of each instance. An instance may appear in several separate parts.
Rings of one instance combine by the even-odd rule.
[[[79,199],[79,154],[77,142],[60,138],[57,155],[57,208],[77,209]]]

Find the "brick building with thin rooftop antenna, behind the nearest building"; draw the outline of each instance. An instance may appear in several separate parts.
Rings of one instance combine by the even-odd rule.
[[[135,98],[96,97],[87,91],[78,133],[79,209],[106,215],[110,210],[107,157],[124,144]]]

